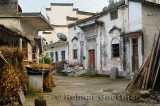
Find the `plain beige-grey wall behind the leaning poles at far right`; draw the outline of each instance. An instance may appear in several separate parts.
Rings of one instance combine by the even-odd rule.
[[[143,35],[144,35],[144,60],[147,58],[152,45],[154,37],[158,37],[160,33],[160,16],[154,14],[160,13],[160,7],[143,4]],[[152,15],[153,16],[148,16]]]

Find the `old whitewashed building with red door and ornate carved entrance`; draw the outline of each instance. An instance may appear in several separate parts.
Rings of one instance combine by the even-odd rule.
[[[136,72],[159,33],[160,18],[149,17],[160,11],[159,6],[126,0],[115,9],[70,24],[69,63],[91,73],[109,74],[112,67],[120,76]]]

